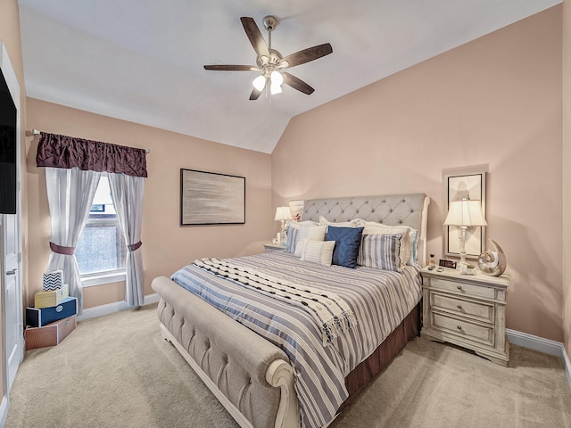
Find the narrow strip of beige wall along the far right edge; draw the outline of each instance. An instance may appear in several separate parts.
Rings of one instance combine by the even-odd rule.
[[[571,359],[571,0],[563,2],[563,333]]]

